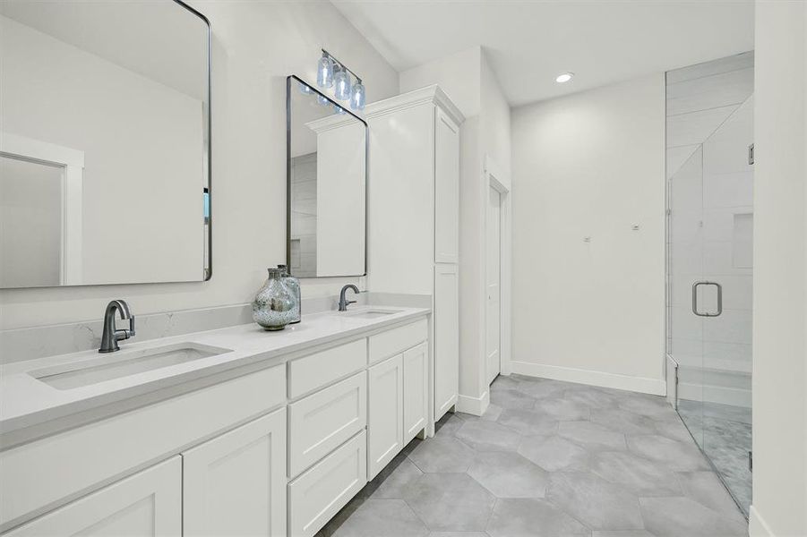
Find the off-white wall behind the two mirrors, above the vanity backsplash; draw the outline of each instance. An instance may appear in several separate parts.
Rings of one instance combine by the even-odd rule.
[[[324,0],[192,2],[213,33],[213,277],[210,282],[0,292],[0,328],[95,320],[111,298],[136,313],[252,300],[286,258],[286,76],[314,80],[320,47],[362,75],[368,98],[398,93],[398,73]],[[308,280],[305,296],[360,278]]]

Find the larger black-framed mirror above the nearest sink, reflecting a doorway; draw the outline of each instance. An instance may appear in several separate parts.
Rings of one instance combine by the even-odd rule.
[[[210,24],[0,4],[0,287],[210,279]]]

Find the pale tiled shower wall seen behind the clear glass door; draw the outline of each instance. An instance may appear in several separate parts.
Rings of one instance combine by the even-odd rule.
[[[671,336],[685,399],[751,405],[752,137],[752,53],[667,74],[667,178],[678,263]],[[682,214],[688,210],[691,217]],[[695,279],[724,287],[720,317],[701,322],[692,315]]]

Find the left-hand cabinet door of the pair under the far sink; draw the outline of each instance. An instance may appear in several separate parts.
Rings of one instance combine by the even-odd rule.
[[[367,474],[369,479],[403,449],[403,358],[368,370]]]

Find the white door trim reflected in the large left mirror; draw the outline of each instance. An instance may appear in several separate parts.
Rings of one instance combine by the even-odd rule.
[[[0,154],[55,164],[62,175],[62,251],[59,284],[82,283],[84,151],[0,132]]]

